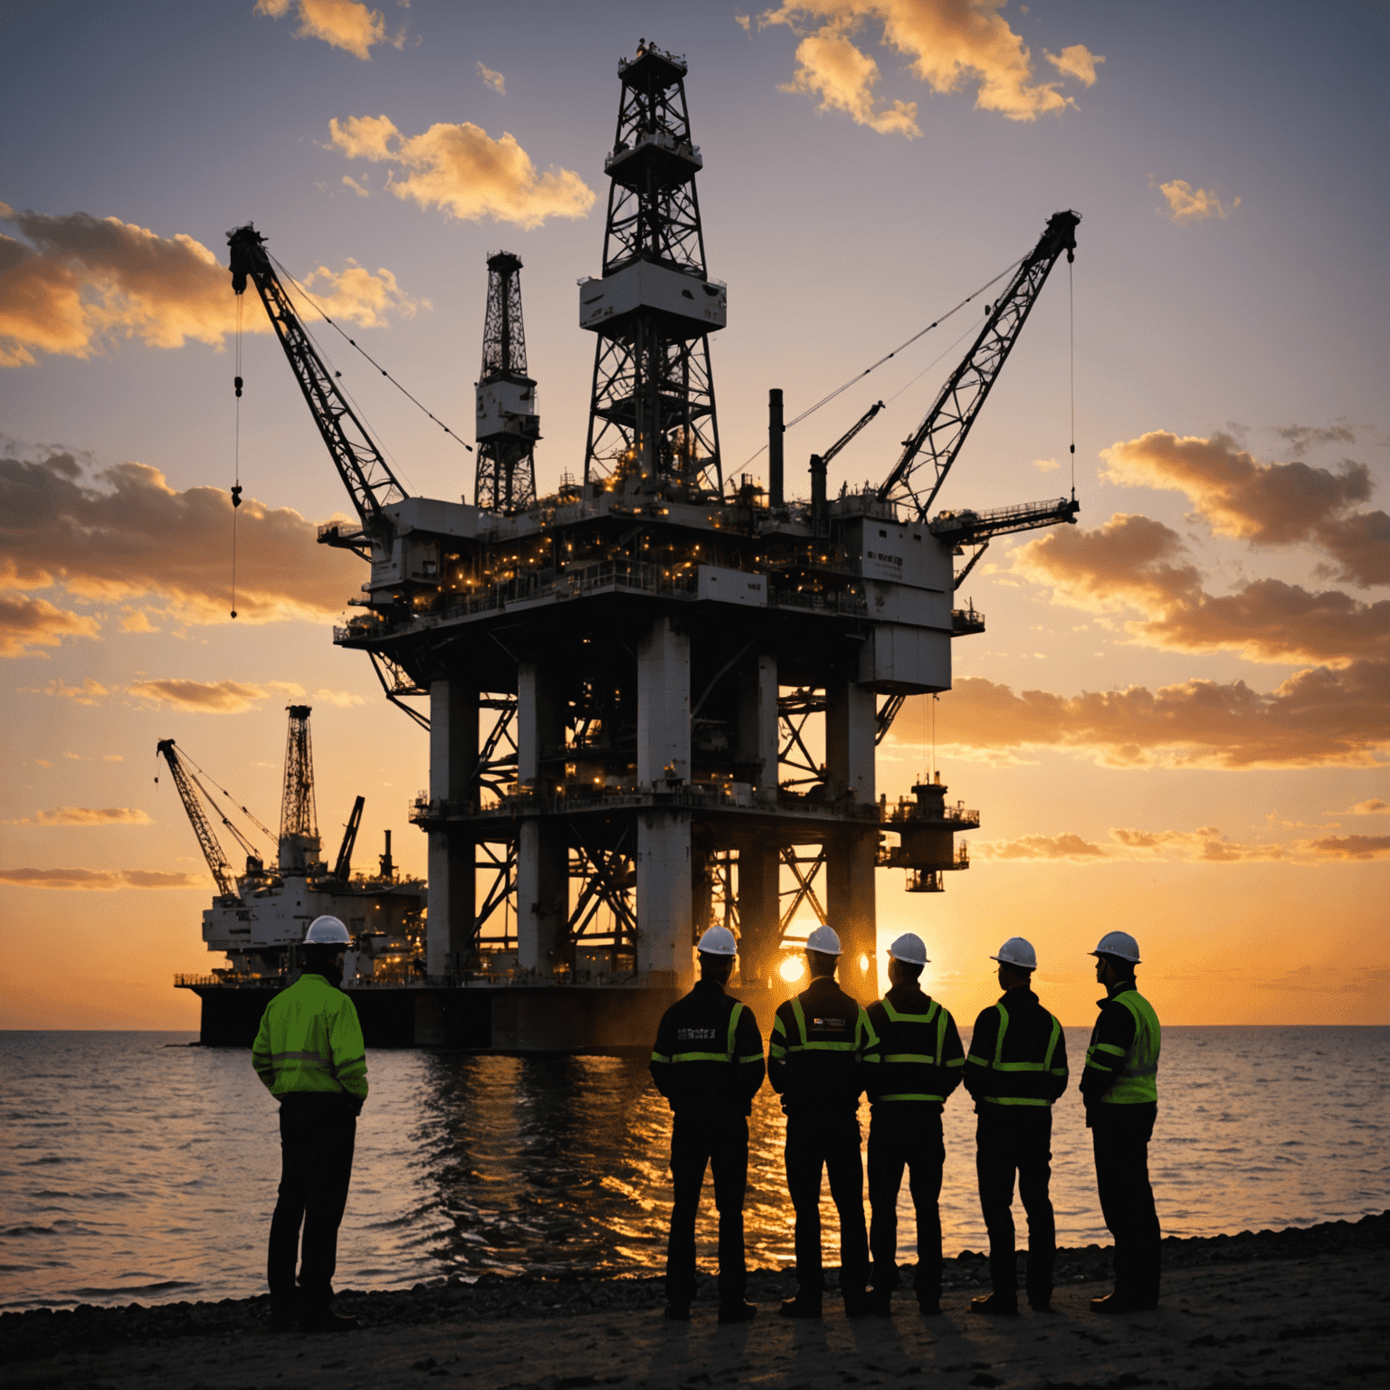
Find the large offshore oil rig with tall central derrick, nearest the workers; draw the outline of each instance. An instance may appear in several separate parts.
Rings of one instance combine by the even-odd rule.
[[[949,689],[955,638],[984,630],[955,594],[990,541],[1079,510],[1058,498],[930,516],[1049,271],[1072,259],[1070,211],[1005,272],[881,484],[827,488],[876,404],[792,496],[780,389],[766,486],[726,477],[709,342],[728,289],[706,267],[685,74],[645,40],[619,64],[602,270],[578,284],[595,338],[584,467],[553,493],[535,485],[517,256],[488,259],[470,503],[406,495],[263,236],[228,238],[234,289],[260,295],[357,516],[318,537],[370,564],[334,639],[430,731],[411,812],[430,845],[427,969],[398,987],[417,999],[414,1037],[398,1041],[646,1044],[714,920],[737,931],[737,988],[763,1013],[806,908],[845,942],[845,987],[873,998],[876,869],[940,891],[969,863],[955,835],[979,824],[937,778],[890,806],[876,748],[909,695]]]

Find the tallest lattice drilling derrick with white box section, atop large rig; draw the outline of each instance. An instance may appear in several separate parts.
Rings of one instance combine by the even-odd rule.
[[[619,79],[603,274],[580,281],[599,339],[584,481],[698,500],[723,489],[709,335],[728,293],[705,274],[685,61],[644,39]]]

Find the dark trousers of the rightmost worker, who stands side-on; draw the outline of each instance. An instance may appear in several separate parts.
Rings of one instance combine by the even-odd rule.
[[[1154,1111],[1140,1106],[1093,1105],[1091,1145],[1101,1213],[1115,1237],[1115,1293],[1125,1302],[1158,1300],[1162,1233],[1148,1182],[1148,1141]]]

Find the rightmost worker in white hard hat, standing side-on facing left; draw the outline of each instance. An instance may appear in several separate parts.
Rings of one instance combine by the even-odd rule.
[[[1138,942],[1108,931],[1091,952],[1099,1017],[1081,1072],[1086,1125],[1095,1154],[1101,1213],[1115,1237],[1115,1290],[1091,1300],[1093,1312],[1158,1307],[1162,1233],[1148,1180],[1148,1141],[1158,1118],[1158,1054],[1162,1030],[1154,1006],[1138,992]]]

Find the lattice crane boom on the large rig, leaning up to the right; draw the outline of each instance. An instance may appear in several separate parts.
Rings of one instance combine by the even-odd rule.
[[[998,297],[970,350],[941,388],[917,432],[903,441],[902,455],[878,488],[885,502],[906,502],[926,521],[951,464],[965,443],[990,388],[1019,339],[1033,304],[1062,252],[1076,254],[1077,213],[1054,213],[1037,246],[1023,259],[1008,289]],[[919,481],[924,468],[931,473]],[[926,485],[924,485],[926,484]]]

